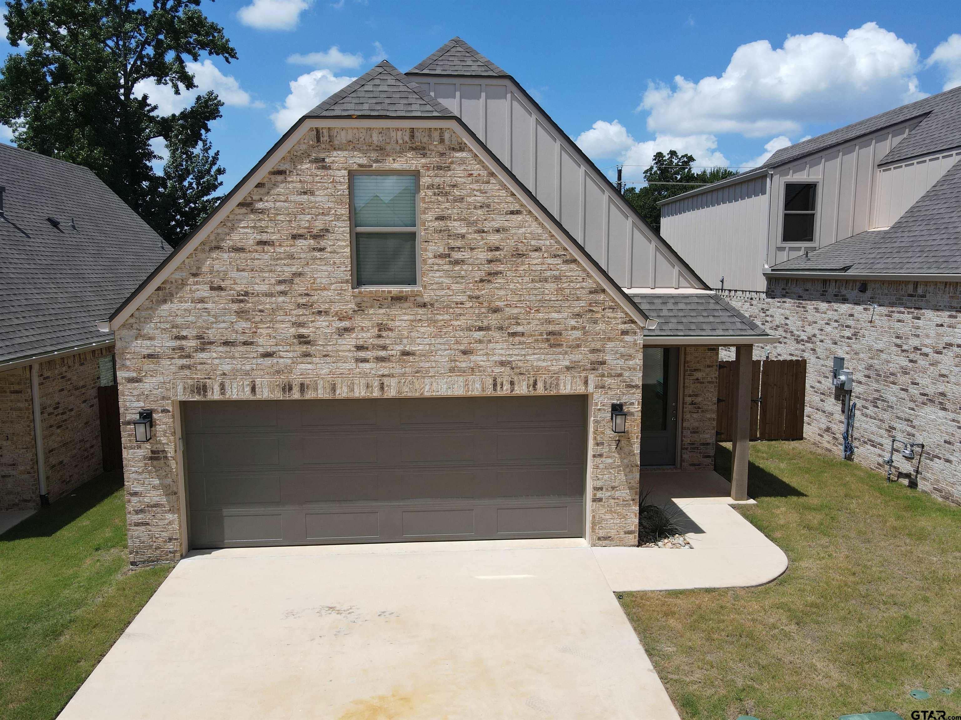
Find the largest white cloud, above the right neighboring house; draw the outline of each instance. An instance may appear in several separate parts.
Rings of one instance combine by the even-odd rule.
[[[778,49],[767,40],[741,45],[720,78],[651,83],[637,109],[650,112],[651,132],[793,134],[804,122],[863,117],[924,97],[918,64],[915,45],[868,22],[844,37],[788,36]]]

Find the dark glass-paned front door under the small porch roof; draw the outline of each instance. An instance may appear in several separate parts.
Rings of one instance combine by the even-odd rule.
[[[644,348],[641,465],[676,463],[678,353],[678,348]]]

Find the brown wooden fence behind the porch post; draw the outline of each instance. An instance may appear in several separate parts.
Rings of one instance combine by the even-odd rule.
[[[737,362],[718,363],[719,443],[730,443],[734,429]],[[806,360],[754,360],[751,372],[751,439],[804,438]]]

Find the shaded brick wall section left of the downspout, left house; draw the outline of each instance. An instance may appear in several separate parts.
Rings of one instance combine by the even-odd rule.
[[[0,511],[39,507],[30,368],[0,372]]]

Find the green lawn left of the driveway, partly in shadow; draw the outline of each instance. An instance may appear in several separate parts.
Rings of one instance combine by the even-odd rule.
[[[0,718],[55,717],[170,569],[129,569],[118,476],[0,535]]]

